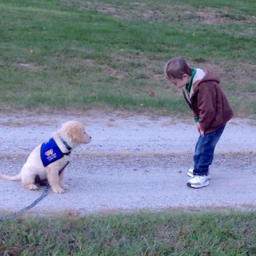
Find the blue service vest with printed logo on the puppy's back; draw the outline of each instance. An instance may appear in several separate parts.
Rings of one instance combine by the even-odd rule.
[[[63,157],[53,138],[41,145],[40,154],[44,167]]]

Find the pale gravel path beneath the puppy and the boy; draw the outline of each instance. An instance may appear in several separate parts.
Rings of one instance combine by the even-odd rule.
[[[126,113],[2,113],[0,173],[13,175],[35,146],[61,123],[78,120],[92,136],[72,152],[64,177],[69,190],[48,193],[30,213],[87,214],[163,208],[256,208],[256,121],[233,118],[215,150],[210,185],[186,186],[198,138],[191,120]],[[20,210],[36,198],[20,182],[0,180],[0,213]]]

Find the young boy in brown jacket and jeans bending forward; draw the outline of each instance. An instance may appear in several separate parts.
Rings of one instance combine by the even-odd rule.
[[[209,165],[214,148],[226,122],[233,116],[228,100],[220,88],[220,78],[210,70],[190,68],[182,57],[168,60],[164,67],[168,82],[183,88],[183,95],[192,109],[196,130],[200,133],[194,153],[194,168],[188,171],[187,185],[201,188],[209,185]]]

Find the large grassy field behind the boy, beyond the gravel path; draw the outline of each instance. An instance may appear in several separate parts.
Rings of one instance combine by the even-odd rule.
[[[2,110],[189,115],[163,77],[181,55],[221,76],[236,116],[256,113],[254,0],[2,0],[0,11]]]

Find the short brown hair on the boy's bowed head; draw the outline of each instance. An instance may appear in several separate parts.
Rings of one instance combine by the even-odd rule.
[[[186,60],[182,57],[175,57],[168,60],[164,66],[164,76],[170,81],[171,79],[182,79],[182,76],[192,75],[192,68],[188,66]]]

